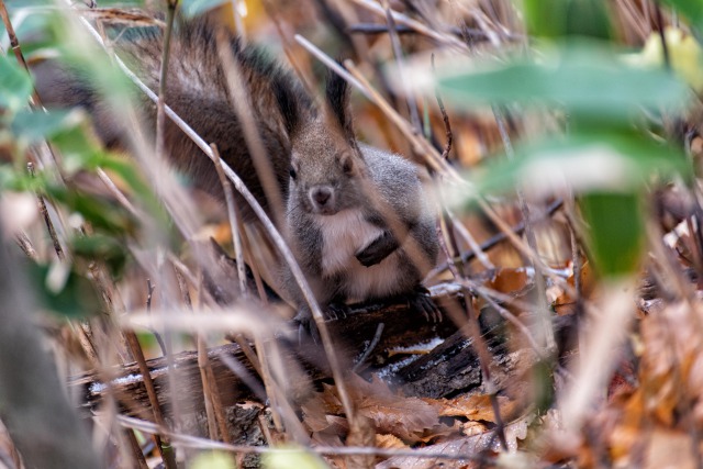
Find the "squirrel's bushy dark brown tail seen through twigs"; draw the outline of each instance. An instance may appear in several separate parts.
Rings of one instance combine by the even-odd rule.
[[[265,209],[268,201],[244,139],[241,123],[230,101],[225,72],[215,44],[215,26],[207,21],[180,25],[171,43],[166,102],[208,143],[215,143],[222,158],[247,182]],[[119,55],[152,89],[158,89],[163,35],[150,29],[116,44]],[[256,48],[242,48],[228,36],[233,57],[238,62],[260,138],[264,142],[272,172],[277,176],[282,200],[288,191],[290,138],[287,129],[294,115],[304,118],[314,112],[312,100],[300,83],[282,67],[267,59]],[[48,105],[79,105],[93,116],[98,135],[110,147],[129,144],[125,131],[105,105],[99,92],[90,86],[89,77],[67,69],[55,62],[40,64],[33,69],[37,90]],[[118,72],[115,70],[115,72]],[[156,105],[135,92],[142,103],[149,129],[155,127]],[[286,111],[286,113],[283,112]],[[222,199],[222,187],[214,166],[196,144],[167,120],[165,148],[171,161],[190,175],[193,183]],[[248,204],[239,200],[244,217],[254,220]]]

